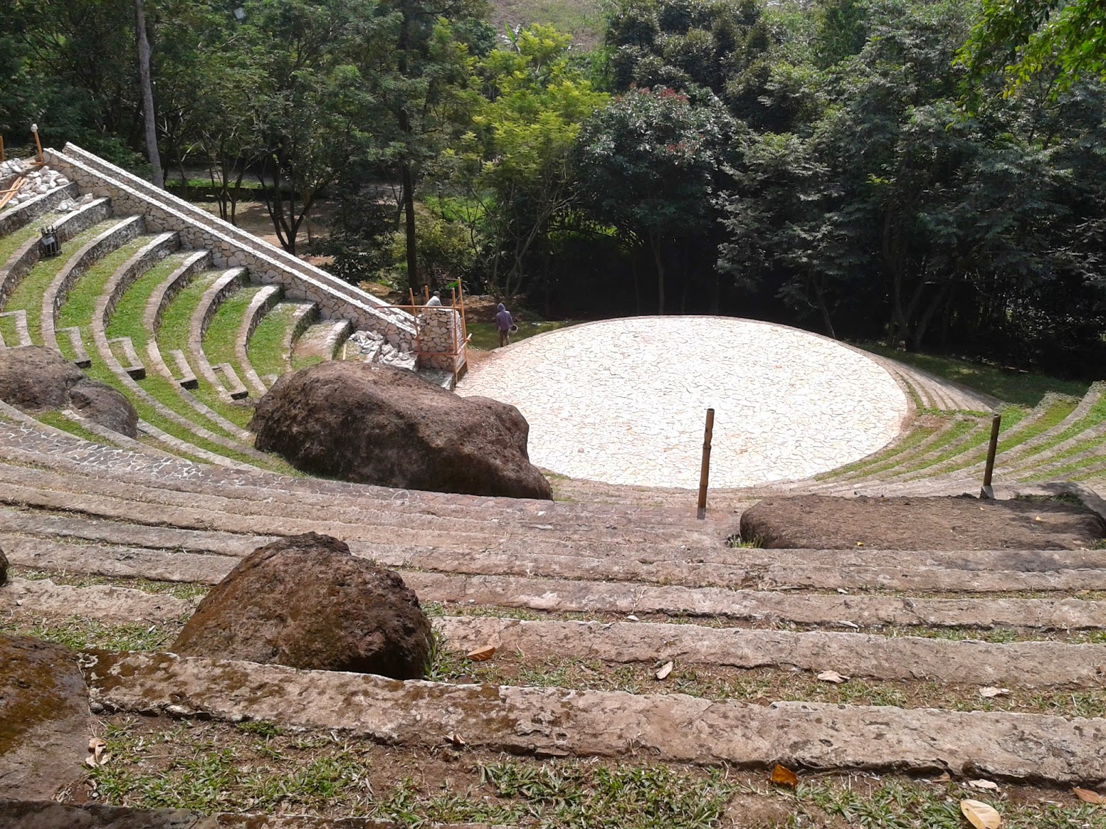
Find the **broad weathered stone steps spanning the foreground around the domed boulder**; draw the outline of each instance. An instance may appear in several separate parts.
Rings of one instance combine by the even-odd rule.
[[[508,751],[523,764],[726,764],[754,777],[776,762],[831,779],[947,772],[951,786],[995,779],[1012,797],[1020,784],[1106,778],[1094,718],[1106,550],[731,549],[735,516],[90,452],[33,421],[0,422],[0,547],[14,567],[0,625],[90,646],[147,631],[88,674],[119,728],[140,713],[336,728],[357,745],[479,763]],[[255,546],[309,531],[417,591],[440,642],[432,682],[164,652],[208,585]],[[488,644],[489,662],[461,655]],[[849,679],[816,679],[827,670]]]

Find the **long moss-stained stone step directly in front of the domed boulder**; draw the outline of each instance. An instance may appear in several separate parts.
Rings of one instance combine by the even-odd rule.
[[[390,745],[1063,784],[1106,778],[1106,720],[397,682],[173,653],[100,652],[82,664],[93,701],[107,711],[334,728]]]

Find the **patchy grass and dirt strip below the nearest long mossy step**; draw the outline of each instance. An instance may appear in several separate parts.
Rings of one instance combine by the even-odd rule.
[[[427,754],[264,722],[115,716],[104,722],[102,736],[112,759],[88,774],[100,800],[112,806],[375,818],[413,827],[705,829],[735,819],[759,829],[963,829],[959,802],[972,798],[991,804],[1004,829],[1106,829],[1106,809],[1079,802],[1066,788],[1004,785],[980,793],[953,780],[799,769],[799,786],[790,789],[772,786],[766,770],[672,767],[647,757],[533,759],[465,748]],[[757,815],[761,808],[769,822]]]

